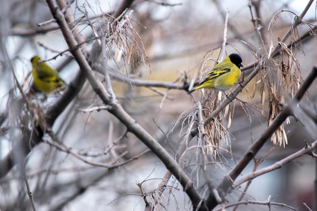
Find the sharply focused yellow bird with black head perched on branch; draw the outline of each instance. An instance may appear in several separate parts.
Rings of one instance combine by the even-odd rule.
[[[242,58],[239,54],[230,54],[222,62],[215,65],[203,81],[187,94],[199,89],[214,89],[225,92],[233,87],[239,79]]]

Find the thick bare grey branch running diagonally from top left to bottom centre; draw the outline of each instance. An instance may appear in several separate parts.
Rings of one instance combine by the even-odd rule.
[[[61,28],[62,34],[68,45],[69,52],[74,56],[76,62],[84,72],[87,79],[90,82],[94,92],[100,97],[105,105],[109,105],[112,108],[109,112],[112,113],[118,120],[126,125],[128,131],[138,137],[152,152],[159,157],[166,167],[173,173],[173,175],[179,180],[194,207],[198,206],[201,202],[201,196],[194,188],[192,182],[179,167],[177,162],[171,157],[171,155],[153,138],[147,133],[123,108],[122,106],[106,92],[101,82],[98,81],[93,71],[85,59],[84,55],[77,48],[77,43],[72,37],[71,31],[69,30],[67,23],[64,19],[63,13],[58,9],[53,0],[47,0],[51,13],[53,14],[56,22]]]

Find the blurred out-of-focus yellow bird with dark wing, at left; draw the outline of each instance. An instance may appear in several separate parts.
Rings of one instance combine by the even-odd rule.
[[[58,72],[45,63],[41,57],[33,57],[31,63],[33,83],[39,91],[50,93],[65,84]]]

